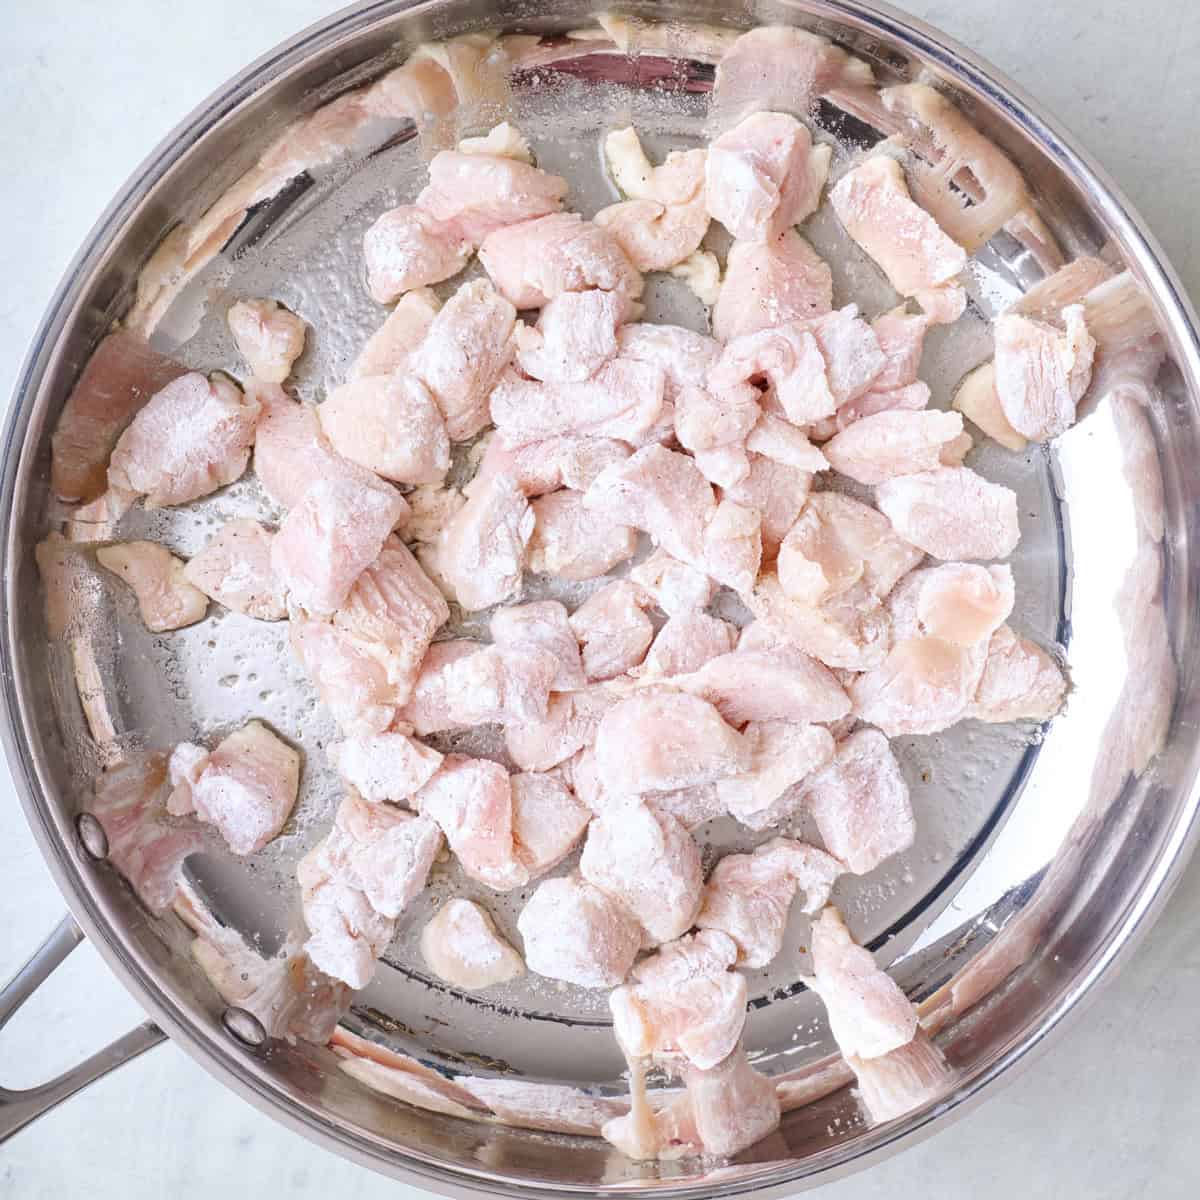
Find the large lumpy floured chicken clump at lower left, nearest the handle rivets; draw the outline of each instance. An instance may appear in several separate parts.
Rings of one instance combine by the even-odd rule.
[[[425,887],[440,848],[432,821],[347,796],[332,829],[296,868],[313,964],[352,988],[366,986],[395,918]]]

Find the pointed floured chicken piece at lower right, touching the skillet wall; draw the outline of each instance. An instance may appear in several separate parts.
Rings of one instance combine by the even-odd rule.
[[[832,905],[812,923],[812,988],[846,1056],[877,1058],[917,1034],[917,1010],[869,950],[854,943]]]

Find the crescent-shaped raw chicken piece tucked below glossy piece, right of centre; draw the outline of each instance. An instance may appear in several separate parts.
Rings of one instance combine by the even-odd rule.
[[[745,599],[768,630],[828,667],[870,671],[887,656],[892,620],[863,582],[820,605],[809,605],[788,599],[779,576],[763,571]]]

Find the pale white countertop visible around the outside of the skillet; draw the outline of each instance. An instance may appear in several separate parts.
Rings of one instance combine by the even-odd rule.
[[[0,396],[109,197],[194,104],[328,0],[6,0],[0,56]],[[1200,298],[1200,5],[908,0],[1072,127]],[[1183,114],[1183,120],[1178,120]],[[0,767],[0,978],[62,911]],[[1200,862],[1122,976],[1007,1090],[835,1200],[1200,1194]],[[140,1020],[89,946],[6,1031],[0,1082],[28,1085]],[[162,1046],[0,1152],[0,1196],[173,1200],[426,1195],[307,1144]]]

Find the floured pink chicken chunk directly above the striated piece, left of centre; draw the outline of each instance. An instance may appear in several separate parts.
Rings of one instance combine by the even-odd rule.
[[[360,467],[316,479],[283,518],[271,568],[293,602],[332,613],[407,510],[396,488]]]

